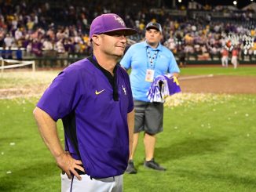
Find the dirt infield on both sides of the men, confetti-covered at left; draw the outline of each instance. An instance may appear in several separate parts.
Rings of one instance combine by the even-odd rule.
[[[53,77],[56,74],[51,74]],[[26,76],[26,75],[25,75]],[[41,96],[45,91],[52,76],[41,74],[41,78],[46,76],[50,81],[25,82],[24,85],[13,84],[9,88],[0,89],[0,99],[11,99],[20,96]],[[228,94],[256,94],[256,77],[249,76],[210,76],[210,75],[181,75],[179,82],[182,92],[192,93],[228,93]],[[27,76],[26,76],[27,77]],[[20,77],[19,77],[20,78]]]

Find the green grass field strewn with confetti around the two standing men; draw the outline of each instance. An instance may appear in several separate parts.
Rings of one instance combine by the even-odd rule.
[[[236,75],[256,74],[256,68],[247,68]],[[184,74],[196,71],[209,73],[207,69],[181,69]],[[214,73],[221,72],[210,74]],[[192,94],[185,103],[165,107],[164,132],[158,136],[155,160],[166,172],[143,167],[141,135],[134,159],[138,173],[124,176],[125,192],[256,191],[256,95],[205,96],[214,99],[200,96],[192,102],[197,97]],[[32,116],[37,100],[0,100],[0,191],[60,191],[60,170]],[[63,142],[60,121],[58,129]]]

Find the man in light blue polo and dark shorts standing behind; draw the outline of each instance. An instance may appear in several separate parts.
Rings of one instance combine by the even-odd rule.
[[[133,164],[133,156],[140,132],[144,132],[146,155],[144,166],[159,171],[166,170],[154,160],[156,134],[163,132],[163,103],[150,103],[147,92],[156,76],[170,73],[177,77],[180,70],[173,53],[161,45],[161,38],[161,25],[147,24],[146,41],[130,46],[120,62],[126,70],[131,68],[130,83],[135,108],[133,150],[126,169],[127,173],[137,173]]]

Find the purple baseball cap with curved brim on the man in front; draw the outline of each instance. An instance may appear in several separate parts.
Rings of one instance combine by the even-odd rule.
[[[123,31],[125,36],[137,34],[137,31],[132,28],[127,28],[123,19],[114,14],[107,13],[97,16],[90,25],[90,38],[93,34],[104,34],[112,31]]]

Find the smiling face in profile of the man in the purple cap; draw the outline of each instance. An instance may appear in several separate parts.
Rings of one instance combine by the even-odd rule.
[[[101,35],[101,51],[110,56],[123,56],[127,39],[123,31],[113,31]]]

